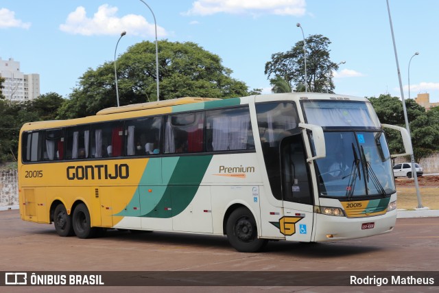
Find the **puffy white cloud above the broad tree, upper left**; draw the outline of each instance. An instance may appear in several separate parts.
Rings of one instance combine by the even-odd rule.
[[[154,21],[148,23],[141,15],[128,14],[117,17],[118,8],[104,4],[97,8],[93,18],[88,18],[85,8],[79,6],[67,16],[60,30],[69,34],[82,34],[84,36],[117,35],[126,31],[134,36],[155,36]],[[157,26],[157,36],[167,36],[163,27]]]

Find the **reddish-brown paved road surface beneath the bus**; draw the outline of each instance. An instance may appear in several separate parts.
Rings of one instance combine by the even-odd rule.
[[[17,210],[0,212],[0,271],[3,272],[23,270],[52,272],[437,271],[439,270],[438,255],[439,218],[435,217],[398,219],[394,231],[386,235],[327,244],[270,242],[262,253],[244,254],[231,248],[225,237],[208,235],[161,232],[133,235],[115,230],[108,231],[104,237],[96,239],[59,237],[53,225],[23,222]],[[439,279],[436,283],[439,283]],[[435,288],[436,292],[438,288]],[[0,288],[0,291],[3,289],[4,287]],[[76,292],[75,288],[50,289],[54,289],[52,292]],[[80,288],[76,288],[78,289]],[[90,291],[88,289],[93,288],[83,289],[87,289],[88,292]],[[99,289],[104,292],[120,292],[120,288],[108,287],[95,288],[97,290],[95,292],[101,292]],[[128,291],[132,292],[134,289],[131,287]],[[147,292],[145,288],[137,289],[139,292]],[[153,292],[151,288],[147,289]],[[252,289],[265,292],[267,288]],[[49,291],[39,291],[29,287],[21,290]],[[212,292],[236,292],[234,290],[236,288],[230,287],[209,289]],[[276,288],[276,290],[293,292],[287,288]],[[336,290],[335,287],[326,289],[311,287],[294,292],[335,292]],[[342,290],[348,291],[346,288]],[[154,292],[170,291],[205,292],[206,290],[200,287],[190,290],[175,287],[171,290],[154,288]],[[403,290],[399,288],[394,292],[403,292]]]

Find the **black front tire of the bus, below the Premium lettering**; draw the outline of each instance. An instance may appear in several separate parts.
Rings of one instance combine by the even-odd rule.
[[[258,228],[252,213],[245,207],[235,209],[227,219],[227,239],[233,248],[241,253],[256,253],[267,239],[258,238]]]

